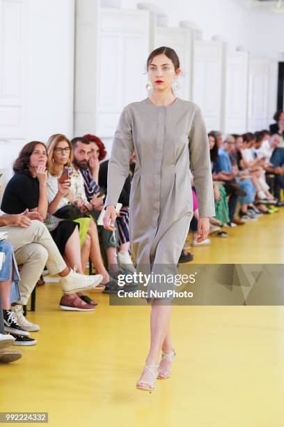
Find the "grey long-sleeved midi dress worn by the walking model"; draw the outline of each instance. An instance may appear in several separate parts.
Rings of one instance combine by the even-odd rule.
[[[118,202],[134,151],[132,255],[137,265],[177,265],[193,216],[191,173],[200,218],[215,215],[210,149],[198,105],[176,98],[157,106],[146,98],[124,108],[111,149],[105,207]]]

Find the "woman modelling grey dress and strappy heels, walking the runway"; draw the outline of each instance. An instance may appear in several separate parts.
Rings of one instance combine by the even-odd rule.
[[[124,108],[113,140],[104,227],[113,230],[116,203],[135,151],[129,201],[132,255],[138,270],[149,265],[153,271],[158,264],[178,264],[193,215],[191,173],[200,216],[198,241],[207,238],[209,218],[215,211],[210,150],[200,108],[177,98],[173,91],[180,74],[178,55],[170,47],[159,47],[148,57],[147,71],[149,97]],[[136,388],[152,391],[156,378],[170,376],[175,351],[171,304],[155,298],[148,303],[150,351]]]

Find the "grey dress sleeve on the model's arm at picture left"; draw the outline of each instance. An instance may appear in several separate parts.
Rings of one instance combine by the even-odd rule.
[[[113,139],[107,173],[107,197],[104,207],[118,202],[125,179],[129,174],[129,161],[134,151],[132,125],[126,109],[120,115]]]

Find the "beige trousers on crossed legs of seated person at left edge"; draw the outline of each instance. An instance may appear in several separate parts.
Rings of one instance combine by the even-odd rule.
[[[19,291],[21,303],[25,305],[45,265],[50,274],[58,274],[66,264],[47,227],[40,221],[31,221],[28,228],[6,226],[0,230],[8,232],[8,241],[14,247],[17,264],[23,264],[19,272]]]

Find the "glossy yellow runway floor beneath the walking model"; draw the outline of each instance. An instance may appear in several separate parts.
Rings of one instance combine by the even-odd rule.
[[[284,208],[194,248],[194,262],[283,263],[283,227]],[[284,426],[282,306],[175,306],[173,375],[149,394],[135,382],[150,308],[91,295],[94,313],[68,313],[57,308],[58,284],[38,288],[29,313],[38,344],[0,366],[1,412],[49,412],[52,427]]]

